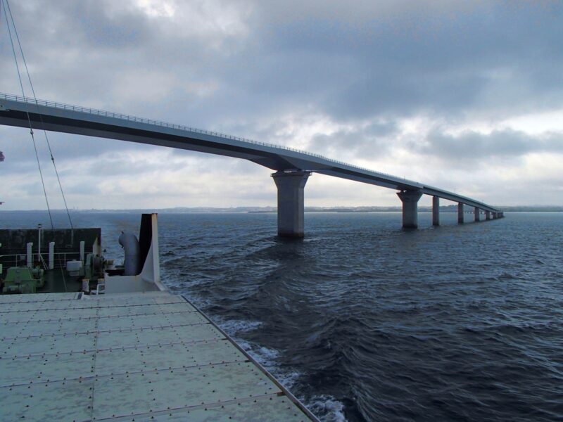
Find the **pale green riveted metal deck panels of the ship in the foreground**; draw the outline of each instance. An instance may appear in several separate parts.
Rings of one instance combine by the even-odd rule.
[[[167,292],[0,295],[0,330],[2,421],[315,420]]]

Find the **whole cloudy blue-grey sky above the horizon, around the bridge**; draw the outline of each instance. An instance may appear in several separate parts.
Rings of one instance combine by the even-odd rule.
[[[563,205],[562,1],[10,6],[38,98],[301,148],[491,205]],[[21,94],[4,10],[0,91]],[[272,171],[252,162],[48,135],[71,208],[276,203]],[[49,203],[62,208],[36,139]],[[0,151],[0,209],[44,209],[28,131],[0,127]],[[313,174],[305,205],[400,200]]]

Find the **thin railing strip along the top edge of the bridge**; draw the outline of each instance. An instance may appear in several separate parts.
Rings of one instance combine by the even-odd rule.
[[[309,153],[308,151],[303,151],[303,150],[300,150],[298,148],[291,148],[291,146],[275,145],[274,143],[254,141],[253,139],[243,138],[241,136],[233,136],[233,135],[229,135],[229,134],[223,134],[221,132],[213,132],[213,131],[209,131],[209,130],[205,130],[205,129],[198,129],[196,127],[184,126],[182,124],[167,123],[167,122],[162,122],[162,121],[159,121],[159,120],[145,119],[143,117],[135,117],[135,116],[132,116],[132,115],[124,115],[124,114],[121,114],[121,113],[113,113],[111,111],[97,110],[95,108],[88,108],[88,107],[82,107],[82,106],[72,106],[70,104],[56,103],[55,101],[39,100],[39,99],[35,99],[35,98],[28,98],[28,97],[25,97],[25,96],[19,96],[19,95],[14,95],[14,94],[0,93],[0,98],[4,98],[5,100],[10,100],[10,101],[17,101],[18,103],[28,103],[28,104],[35,104],[36,106],[54,107],[54,108],[60,108],[62,110],[72,110],[72,111],[78,111],[80,113],[89,113],[91,115],[101,115],[101,116],[105,116],[105,117],[114,117],[114,118],[117,118],[117,119],[129,120],[129,121],[132,121],[132,122],[154,124],[154,125],[160,126],[160,127],[169,127],[170,129],[185,130],[185,131],[189,131],[189,132],[196,132],[198,134],[220,136],[222,138],[232,139],[234,141],[252,143],[253,145],[267,146],[268,148],[280,148],[280,149],[283,149],[283,150],[286,150],[286,151],[293,151],[295,153],[308,155],[310,157],[321,158],[322,160],[334,162],[334,163],[339,164],[339,165],[346,165],[347,167],[353,167],[355,169],[363,170],[365,172],[371,172],[371,173],[374,173],[374,174],[381,174],[382,176],[391,177],[391,178],[396,179],[396,180],[403,180],[407,184],[419,184],[417,181],[407,180],[405,178],[393,176],[393,174],[388,174],[388,173],[384,173],[384,172],[375,172],[374,170],[370,170],[367,167],[360,167],[358,165],[350,165],[347,162],[334,160],[333,158],[327,158],[324,155],[320,155],[320,154],[316,154],[316,153]]]

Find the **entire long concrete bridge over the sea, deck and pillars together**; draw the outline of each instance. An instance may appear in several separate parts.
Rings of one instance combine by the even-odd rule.
[[[440,224],[440,198],[458,203],[457,220],[464,222],[464,205],[474,208],[474,220],[497,219],[503,212],[478,200],[434,186],[331,160],[322,155],[210,132],[52,101],[0,94],[0,124],[30,127],[99,138],[167,146],[243,158],[275,170],[279,236],[302,237],[304,188],[311,172],[396,189],[403,202],[403,227],[418,226],[418,201],[432,196],[432,223]]]

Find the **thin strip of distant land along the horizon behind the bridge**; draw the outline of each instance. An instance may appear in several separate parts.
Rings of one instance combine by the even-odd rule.
[[[522,205],[522,206],[500,206],[500,210],[505,212],[563,212],[563,206],[561,205]],[[432,207],[420,206],[420,212],[431,212]],[[472,210],[472,207],[466,205],[466,211]],[[4,210],[1,210],[2,212]],[[11,210],[6,212],[37,212],[44,210]],[[70,210],[70,212],[159,212],[165,213],[232,213],[232,212],[276,212],[276,207],[174,207],[174,208],[137,208],[129,210],[96,210],[94,208],[90,210]],[[305,212],[400,212],[401,207],[305,207]],[[51,212],[65,212],[64,210],[51,210]],[[440,212],[457,212],[457,205],[444,205],[440,207]]]

